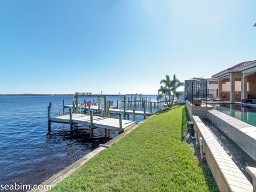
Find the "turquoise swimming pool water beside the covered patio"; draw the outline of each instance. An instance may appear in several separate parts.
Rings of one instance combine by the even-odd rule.
[[[256,126],[256,107],[225,103],[215,106],[215,109],[245,123]]]

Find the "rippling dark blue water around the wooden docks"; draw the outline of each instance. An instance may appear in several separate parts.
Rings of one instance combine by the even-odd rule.
[[[113,131],[105,137],[104,130],[95,129],[90,139],[82,125],[71,136],[69,125],[52,123],[48,135],[47,106],[52,102],[52,117],[57,116],[62,99],[71,105],[73,96],[0,96],[0,184],[39,184],[118,134]],[[107,99],[115,104],[119,97]],[[143,110],[140,105],[136,109]],[[153,112],[157,110],[153,107]],[[142,118],[136,116],[137,122]]]

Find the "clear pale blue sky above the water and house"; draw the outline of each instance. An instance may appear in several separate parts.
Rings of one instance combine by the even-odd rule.
[[[0,94],[157,94],[256,59],[255,0],[0,0]]]

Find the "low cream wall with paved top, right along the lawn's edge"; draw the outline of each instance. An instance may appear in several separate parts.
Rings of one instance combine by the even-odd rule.
[[[251,183],[220,146],[210,129],[198,116],[193,116],[193,122],[194,129],[197,129],[197,140],[203,138],[203,152],[220,191],[252,191]]]

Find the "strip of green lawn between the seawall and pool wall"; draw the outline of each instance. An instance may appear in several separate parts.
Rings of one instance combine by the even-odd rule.
[[[51,191],[218,191],[211,171],[181,141],[184,108],[151,117]]]

